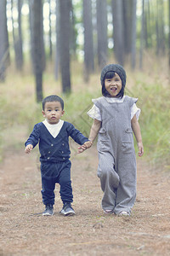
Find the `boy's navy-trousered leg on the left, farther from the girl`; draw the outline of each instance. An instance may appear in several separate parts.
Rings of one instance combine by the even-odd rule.
[[[44,164],[41,165],[42,174],[42,202],[44,205],[54,205],[54,165]]]

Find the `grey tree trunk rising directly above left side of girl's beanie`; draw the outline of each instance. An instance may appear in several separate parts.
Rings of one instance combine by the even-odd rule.
[[[97,2],[97,32],[98,32],[98,63],[102,68],[107,62],[107,3],[106,0]]]

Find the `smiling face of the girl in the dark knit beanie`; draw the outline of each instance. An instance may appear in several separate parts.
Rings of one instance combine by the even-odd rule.
[[[117,73],[115,73],[112,79],[105,79],[105,90],[107,90],[111,97],[116,97],[122,90],[122,80]]]

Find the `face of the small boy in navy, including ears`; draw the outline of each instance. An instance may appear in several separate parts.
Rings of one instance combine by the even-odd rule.
[[[46,102],[45,108],[42,110],[43,117],[47,119],[50,125],[59,123],[59,119],[65,113],[61,108],[60,102]]]

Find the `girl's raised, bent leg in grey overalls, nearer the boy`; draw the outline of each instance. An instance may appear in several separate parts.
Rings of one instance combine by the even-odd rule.
[[[115,172],[114,166],[114,158],[110,153],[99,153],[98,177],[104,192],[101,202],[104,210],[113,210],[115,207],[115,189],[119,184],[119,176]]]

